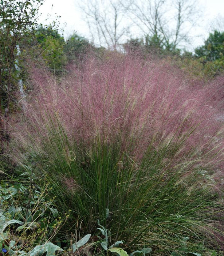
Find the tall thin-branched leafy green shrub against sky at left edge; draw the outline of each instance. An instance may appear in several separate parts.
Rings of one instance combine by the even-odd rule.
[[[19,71],[15,67],[17,45],[35,26],[35,16],[42,0],[0,1],[0,110],[8,108],[13,93],[18,92]]]

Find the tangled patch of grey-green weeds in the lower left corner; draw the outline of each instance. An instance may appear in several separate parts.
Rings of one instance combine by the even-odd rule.
[[[64,220],[68,218],[68,215],[59,216],[54,208],[54,198],[46,197],[50,184],[45,182],[40,187],[35,174],[27,171],[23,166],[23,173],[16,179],[8,177],[1,180],[1,255],[32,255],[27,251],[32,252],[35,246],[38,248],[49,240],[55,241]]]

